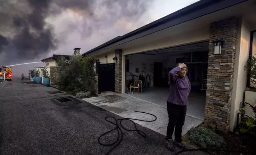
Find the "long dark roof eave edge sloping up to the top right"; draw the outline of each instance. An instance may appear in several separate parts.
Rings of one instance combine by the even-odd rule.
[[[219,11],[221,9],[231,7],[233,5],[236,5],[236,4],[245,2],[245,1],[247,1],[247,0],[232,0],[232,1],[231,0],[200,0],[194,4],[191,4],[185,8],[182,8],[174,13],[171,13],[161,19],[158,19],[157,21],[154,21],[154,22],[149,23],[145,26],[142,26],[141,28],[138,28],[132,32],[129,32],[128,34],[125,34],[124,36],[121,36],[121,37],[117,38],[116,40],[112,40],[112,41],[103,43],[103,44],[83,53],[83,56],[88,55],[88,54],[91,55],[91,54],[95,54],[100,51],[103,51],[104,47],[107,47],[114,43],[120,42],[120,44],[122,44],[121,41],[123,41],[123,40],[129,40],[129,38],[130,38],[130,40],[134,40],[134,39],[140,38],[142,36],[146,36],[148,34],[157,32],[159,30],[163,30],[165,28],[168,28],[168,27],[171,27],[174,25],[178,25],[178,24],[184,23],[186,21],[190,21],[192,19],[207,15],[209,13],[213,13],[215,11]],[[210,9],[207,8],[208,6],[211,6],[211,5],[212,6],[214,5],[214,7],[211,7]],[[200,11],[198,11],[198,10],[200,10]],[[196,12],[196,11],[198,11],[198,12],[192,13],[192,12]],[[174,23],[174,22],[170,23],[170,21],[173,21],[174,19],[178,19],[178,18],[180,18],[180,20],[176,20],[176,23]],[[155,28],[154,30],[152,30],[152,28],[154,28],[156,26],[159,26],[159,28]],[[148,34],[142,34],[142,32],[145,32],[145,31],[149,31],[149,32],[147,32]],[[141,34],[141,35],[139,35],[139,34]],[[138,35],[138,36],[134,37],[135,35]],[[127,41],[127,42],[129,42],[129,41]]]

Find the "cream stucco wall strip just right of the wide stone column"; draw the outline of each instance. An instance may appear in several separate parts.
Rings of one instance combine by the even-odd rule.
[[[250,46],[250,26],[244,19],[240,19],[239,33],[237,38],[235,67],[234,67],[234,82],[233,92],[231,99],[231,115],[230,115],[230,128],[233,129],[237,125],[237,113],[240,110],[240,103],[243,101],[244,91],[246,90],[247,72],[244,69],[246,61],[249,57]]]

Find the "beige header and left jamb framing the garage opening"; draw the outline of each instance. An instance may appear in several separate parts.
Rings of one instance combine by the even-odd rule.
[[[169,38],[162,40],[157,40],[155,42],[149,42],[142,44],[136,47],[130,47],[123,49],[123,58],[122,58],[122,93],[125,92],[125,55],[130,55],[132,53],[140,53],[144,51],[150,51],[153,49],[161,49],[165,47],[171,47],[175,45],[182,45],[185,43],[198,42],[202,40],[209,39],[209,26],[200,28],[193,31],[184,32]]]

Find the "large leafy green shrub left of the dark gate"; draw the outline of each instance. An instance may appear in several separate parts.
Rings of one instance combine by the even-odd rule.
[[[83,58],[81,55],[72,55],[70,61],[61,57],[58,60],[59,88],[73,93],[90,91],[92,95],[96,95],[94,62],[93,57]]]

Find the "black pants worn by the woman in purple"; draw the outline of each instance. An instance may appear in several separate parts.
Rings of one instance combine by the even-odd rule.
[[[175,140],[181,143],[182,126],[185,122],[187,106],[179,106],[167,102],[167,112],[169,117],[169,123],[167,126],[166,139],[172,139],[173,131],[175,128]]]

